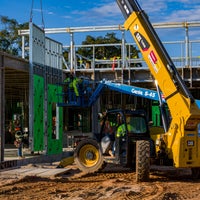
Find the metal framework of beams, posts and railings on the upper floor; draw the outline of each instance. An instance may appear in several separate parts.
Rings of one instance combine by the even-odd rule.
[[[170,22],[170,23],[154,23],[153,27],[156,30],[159,29],[183,29],[185,37],[180,41],[163,41],[164,46],[168,50],[170,47],[176,49],[178,54],[170,53],[170,56],[177,68],[179,68],[180,73],[182,74],[182,78],[188,79],[188,75],[184,77],[185,73],[189,73],[188,81],[192,82],[192,70],[188,72],[184,68],[198,68],[200,66],[200,55],[196,55],[196,49],[200,48],[200,40],[191,40],[189,38],[189,32],[191,28],[200,27],[200,22]],[[75,33],[86,33],[86,32],[109,32],[109,31],[117,31],[121,33],[121,42],[114,44],[91,44],[91,45],[77,45],[74,39]],[[69,34],[70,44],[63,46],[63,50],[69,52],[68,60],[63,59],[64,73],[69,73],[73,71],[75,74],[81,75],[83,73],[89,74],[90,78],[97,80],[99,78],[106,79],[114,79],[120,82],[127,82],[131,84],[131,80],[135,79],[140,81],[140,77],[142,75],[132,77],[131,74],[138,74],[138,70],[140,73],[143,73],[143,81],[146,79],[151,81],[150,74],[146,74],[146,70],[148,67],[146,66],[144,60],[139,58],[131,58],[130,47],[137,48],[135,43],[127,43],[125,36],[125,29],[123,25],[112,25],[112,26],[88,26],[88,27],[67,27],[67,28],[46,28],[44,29],[45,34]],[[24,37],[29,35],[29,30],[19,30],[19,35],[22,36],[22,41],[24,41]],[[106,58],[106,59],[96,59],[95,49],[101,46],[110,47],[117,46],[121,48],[121,56],[114,60],[114,58]],[[92,59],[85,58],[82,55],[78,55],[76,53],[77,48],[91,48],[93,51]],[[24,43],[22,43],[22,57],[24,57],[24,52],[26,50]],[[84,63],[83,60],[89,61],[90,65]],[[115,68],[113,70],[113,62],[115,62]],[[99,67],[100,66],[100,67]],[[138,67],[142,66],[142,67]],[[114,75],[113,75],[114,71]],[[185,72],[186,71],[186,72]],[[107,73],[107,77],[102,77],[101,75],[97,75],[96,73],[105,74]],[[112,75],[109,76],[109,73]],[[126,75],[127,74],[127,75]],[[125,76],[125,77],[124,77]],[[192,85],[190,85],[192,86]]]

